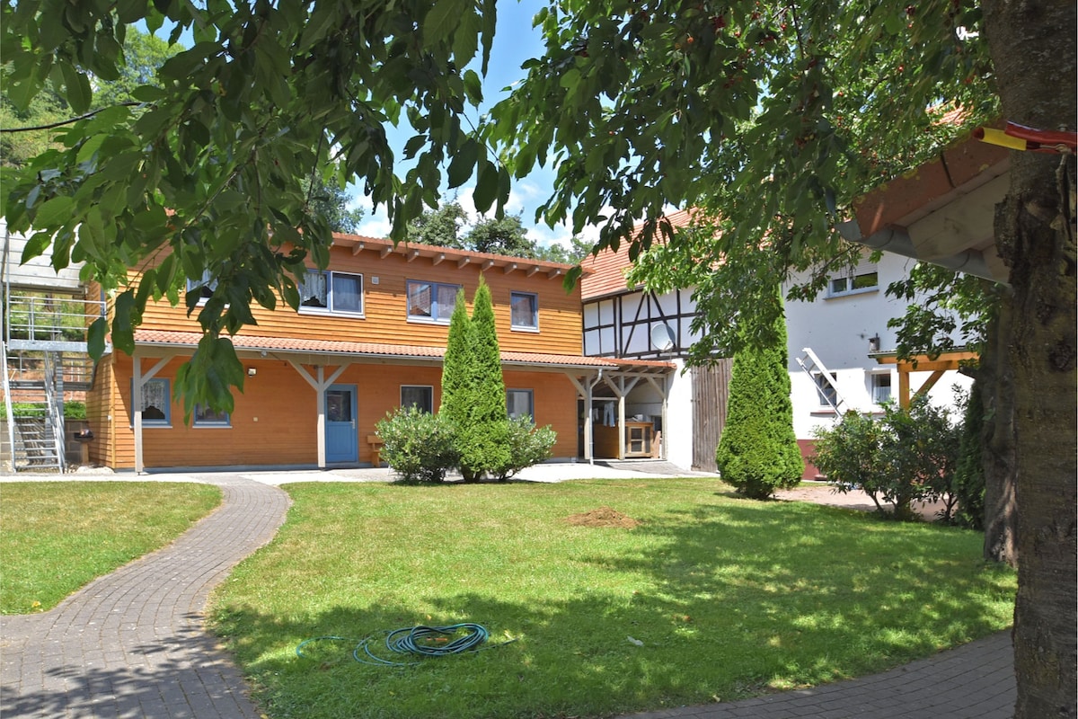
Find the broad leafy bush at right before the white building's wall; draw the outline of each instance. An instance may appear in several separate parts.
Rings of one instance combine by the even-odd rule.
[[[881,499],[893,504],[890,514],[898,520],[916,516],[914,501],[941,500],[942,518],[951,521],[960,427],[951,421],[950,410],[918,397],[909,410],[888,403],[879,420],[851,412],[815,433],[812,461],[839,492],[859,487],[881,514],[887,513]]]

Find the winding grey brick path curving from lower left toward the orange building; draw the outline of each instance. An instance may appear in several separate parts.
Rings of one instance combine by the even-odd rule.
[[[194,479],[194,478],[193,478]],[[172,544],[42,613],[0,618],[0,717],[258,719],[203,631],[210,590],[270,541],[279,488],[222,474],[223,502]]]

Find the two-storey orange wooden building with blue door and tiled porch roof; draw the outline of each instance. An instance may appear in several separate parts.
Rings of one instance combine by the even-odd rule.
[[[570,265],[335,235],[327,271],[312,269],[299,310],[252,307],[232,338],[247,371],[230,414],[171,399],[176,371],[201,337],[184,307],[151,303],[133,356],[98,364],[87,396],[89,459],[115,469],[359,467],[376,458],[375,423],[393,409],[437,410],[457,290],[490,287],[507,403],[557,432],[554,457],[591,458],[591,390],[604,377],[665,388],[673,365],[584,357]],[[210,291],[207,288],[207,291]]]

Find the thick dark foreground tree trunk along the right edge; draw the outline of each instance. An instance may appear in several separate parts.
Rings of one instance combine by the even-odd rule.
[[[1075,130],[1074,0],[985,0],[985,31],[1004,120]],[[1014,292],[1010,364],[1019,590],[1014,606],[1018,719],[1078,715],[1078,292],[1075,158],[1012,152],[996,208],[996,243]]]

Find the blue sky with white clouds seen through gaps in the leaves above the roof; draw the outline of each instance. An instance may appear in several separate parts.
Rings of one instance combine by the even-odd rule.
[[[531,18],[542,8],[545,2],[540,0],[501,0],[498,3],[498,26],[494,37],[494,45],[490,50],[489,72],[484,79],[483,97],[486,103],[494,105],[506,96],[501,92],[503,87],[524,78],[524,70],[521,65],[531,57],[539,57],[542,54],[542,38],[540,32],[531,27]],[[476,68],[478,69],[478,68]],[[412,136],[407,129],[402,132],[389,130],[391,140],[398,148],[403,148],[404,142]],[[397,153],[400,157],[400,152]],[[404,169],[399,168],[398,175]],[[545,224],[536,223],[536,207],[544,201],[553,189],[554,172],[548,166],[537,168],[531,175],[523,180],[515,180],[509,197],[507,211],[511,215],[521,215],[521,221],[528,230],[528,236],[539,241],[541,245],[561,243],[567,245],[572,236],[570,229],[558,226],[548,227]],[[474,189],[474,180],[465,183],[464,186],[454,190],[460,205],[474,215],[471,204],[471,193]],[[443,199],[448,198],[444,196]],[[357,229],[357,233],[371,237],[385,237],[389,234],[389,222],[386,220],[384,208],[379,208],[377,213],[372,213],[370,203],[362,196],[356,195],[354,205],[363,208],[365,217]],[[597,235],[597,232],[595,233]],[[591,233],[585,232],[585,236]]]

